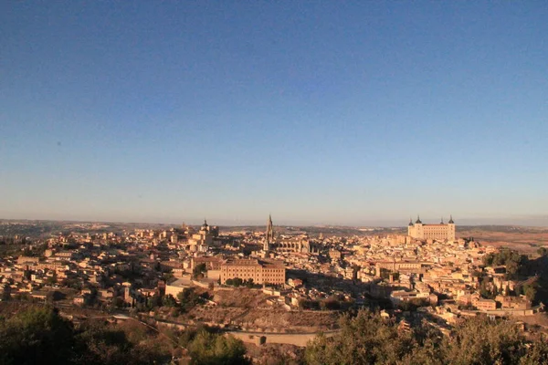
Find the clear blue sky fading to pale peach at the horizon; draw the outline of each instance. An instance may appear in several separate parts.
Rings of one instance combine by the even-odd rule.
[[[0,218],[548,226],[548,3],[0,3]]]

